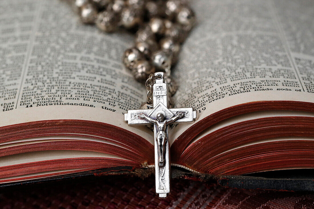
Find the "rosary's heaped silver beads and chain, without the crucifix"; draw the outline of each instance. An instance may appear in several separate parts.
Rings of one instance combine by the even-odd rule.
[[[146,79],[147,104],[152,104],[153,73],[165,72],[171,96],[178,88],[171,66],[178,60],[181,44],[196,22],[187,0],[68,0],[85,24],[111,33],[119,27],[136,29],[135,46],[122,62],[133,77]],[[134,31],[134,30],[133,30]]]

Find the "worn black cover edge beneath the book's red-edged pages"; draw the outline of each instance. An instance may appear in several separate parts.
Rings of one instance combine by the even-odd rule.
[[[302,169],[300,172],[303,172]],[[314,175],[312,169],[307,172],[308,175],[297,176],[281,176],[276,174],[275,178],[269,177],[271,173],[255,175],[212,175],[212,174],[199,174],[178,167],[171,167],[171,177],[178,179],[189,179],[203,182],[216,183],[224,187],[238,188],[238,189],[266,189],[266,190],[284,190],[284,191],[314,191]],[[298,172],[298,171],[296,171]],[[131,166],[120,166],[114,168],[98,169],[93,171],[78,172],[73,174],[59,175],[42,179],[25,180],[11,183],[4,183],[0,185],[0,189],[23,186],[23,185],[49,185],[58,182],[75,183],[84,181],[94,181],[98,178],[105,178],[108,175],[125,175],[126,177],[140,177],[147,178],[154,174],[154,168],[140,168],[134,169]],[[293,174],[293,172],[292,172]],[[266,177],[264,177],[264,176]],[[267,176],[268,175],[268,176]]]

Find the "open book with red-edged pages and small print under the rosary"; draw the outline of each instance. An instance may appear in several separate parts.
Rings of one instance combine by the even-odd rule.
[[[314,168],[313,3],[191,4],[198,24],[172,99],[198,120],[171,126],[172,165],[214,176]],[[132,34],[81,24],[59,0],[0,10],[0,183],[153,165],[152,131],[123,117],[146,100],[121,63]]]

